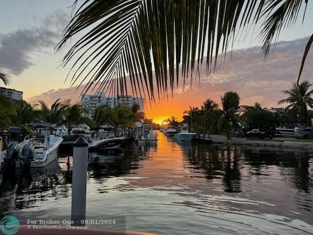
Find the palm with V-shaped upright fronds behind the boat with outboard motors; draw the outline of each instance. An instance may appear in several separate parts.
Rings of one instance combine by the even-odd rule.
[[[60,124],[63,122],[63,116],[68,104],[62,103],[61,99],[57,99],[49,109],[44,101],[38,101],[40,105],[40,117],[46,121],[51,123]]]

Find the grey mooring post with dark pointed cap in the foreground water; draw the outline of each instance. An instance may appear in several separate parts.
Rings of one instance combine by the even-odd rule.
[[[73,143],[72,213],[74,225],[85,226],[88,142],[79,137]]]

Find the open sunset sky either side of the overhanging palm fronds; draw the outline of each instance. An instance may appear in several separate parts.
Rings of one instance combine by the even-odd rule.
[[[69,83],[65,82],[69,68],[58,67],[70,45],[57,53],[54,50],[70,20],[72,3],[73,0],[1,0],[0,71],[11,75],[8,87],[23,91],[23,98],[31,103],[44,100],[51,104],[57,98],[80,100],[80,93],[74,93],[76,88],[68,90]],[[265,63],[259,41],[250,30],[246,39],[234,43],[231,60],[226,57],[217,72],[207,77],[203,68],[200,81],[192,87],[187,82],[185,89],[180,85],[173,97],[170,94],[151,106],[147,102],[146,116],[156,121],[170,116],[180,119],[189,106],[200,107],[208,98],[220,103],[220,95],[230,90],[238,92],[242,104],[260,102],[265,107],[277,107],[284,98],[281,91],[296,80],[301,56],[312,34],[312,5],[308,5],[303,25],[300,20],[280,35]],[[309,52],[302,76],[311,82],[312,53]]]

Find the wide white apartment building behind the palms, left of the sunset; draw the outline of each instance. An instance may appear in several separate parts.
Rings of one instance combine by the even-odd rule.
[[[142,97],[133,97],[132,95],[106,97],[104,93],[82,95],[82,106],[89,110],[89,118],[92,118],[93,111],[101,105],[108,105],[111,108],[117,105],[126,105],[131,108],[134,104],[139,105],[139,112],[144,112],[145,99]]]

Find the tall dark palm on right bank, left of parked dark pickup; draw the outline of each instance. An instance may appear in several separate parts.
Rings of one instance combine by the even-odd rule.
[[[224,97],[221,96],[223,109],[222,116],[218,121],[219,130],[225,131],[227,140],[230,140],[230,130],[232,128],[241,129],[238,123],[244,123],[244,121],[238,116],[239,110],[239,95],[236,92],[226,92]]]

